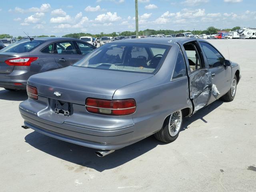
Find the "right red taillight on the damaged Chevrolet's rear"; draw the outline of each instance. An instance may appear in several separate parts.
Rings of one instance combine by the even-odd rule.
[[[130,115],[136,111],[136,102],[134,99],[103,100],[87,98],[86,110],[104,115]]]

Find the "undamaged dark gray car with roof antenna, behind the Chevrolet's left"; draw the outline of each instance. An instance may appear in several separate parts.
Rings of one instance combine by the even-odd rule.
[[[35,38],[11,44],[0,50],[0,87],[26,89],[31,75],[70,66],[94,49],[74,38]]]

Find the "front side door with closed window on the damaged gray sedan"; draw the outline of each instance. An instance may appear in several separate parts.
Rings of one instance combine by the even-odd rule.
[[[216,96],[212,95],[209,103],[220,98],[228,92],[231,85],[231,66],[224,66],[225,58],[207,42],[199,41],[199,44],[204,52],[205,62],[208,62],[209,70],[212,74],[212,83],[220,92]]]

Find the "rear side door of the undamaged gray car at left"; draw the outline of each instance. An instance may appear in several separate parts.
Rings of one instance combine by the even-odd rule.
[[[72,41],[55,42],[53,55],[60,68],[70,66],[82,58]]]

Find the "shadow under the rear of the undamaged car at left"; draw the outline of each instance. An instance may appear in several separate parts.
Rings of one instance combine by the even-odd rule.
[[[24,101],[28,99],[26,90],[8,91],[0,90],[0,99],[9,101]]]

